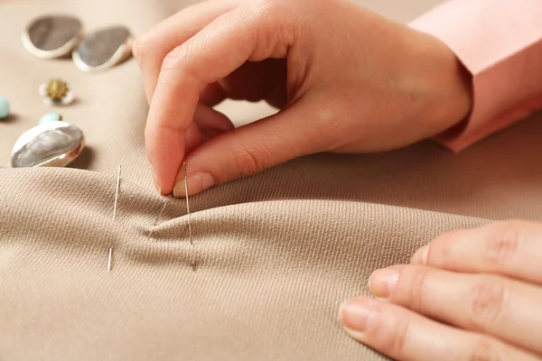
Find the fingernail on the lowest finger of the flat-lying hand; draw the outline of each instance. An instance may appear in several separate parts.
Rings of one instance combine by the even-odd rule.
[[[376,324],[378,305],[374,302],[376,301],[355,299],[342,303],[339,318],[352,338],[363,338],[363,333]]]

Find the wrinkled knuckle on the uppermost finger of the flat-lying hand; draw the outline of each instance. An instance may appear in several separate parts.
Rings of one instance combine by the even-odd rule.
[[[507,221],[491,225],[489,228],[487,261],[499,268],[503,268],[516,255],[522,238],[521,227],[518,222]]]

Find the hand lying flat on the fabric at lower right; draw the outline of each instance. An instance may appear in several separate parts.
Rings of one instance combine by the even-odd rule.
[[[542,360],[542,224],[440,236],[369,288],[382,301],[347,301],[342,324],[395,359]]]

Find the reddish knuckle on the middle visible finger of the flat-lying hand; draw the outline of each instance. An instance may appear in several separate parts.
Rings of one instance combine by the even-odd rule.
[[[472,292],[472,323],[475,329],[487,329],[500,319],[507,300],[504,282],[492,276],[481,278]]]

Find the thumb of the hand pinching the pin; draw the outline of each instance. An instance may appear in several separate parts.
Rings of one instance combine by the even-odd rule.
[[[220,134],[190,153],[188,193],[193,195],[229,180],[248,177],[282,162],[317,152],[314,130],[305,129],[309,108],[295,103],[274,116]],[[313,134],[314,133],[314,134]],[[185,197],[184,172],[177,173],[173,197]]]

